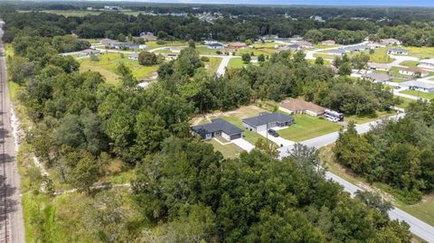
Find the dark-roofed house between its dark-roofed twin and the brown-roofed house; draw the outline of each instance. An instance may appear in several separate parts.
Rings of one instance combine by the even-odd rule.
[[[242,126],[253,132],[265,131],[276,126],[290,126],[294,118],[280,112],[262,112],[258,117],[242,119]]]

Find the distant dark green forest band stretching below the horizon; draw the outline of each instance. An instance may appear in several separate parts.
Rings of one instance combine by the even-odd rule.
[[[152,31],[162,40],[202,41],[213,38],[232,42],[257,40],[261,35],[278,34],[280,37],[306,35],[307,39],[314,42],[332,39],[338,43],[348,44],[362,42],[369,36],[372,40],[396,38],[404,45],[434,46],[434,27],[429,24],[434,21],[433,16],[420,8],[407,11],[399,8],[392,10],[361,8],[359,13],[354,13],[354,10],[341,8],[321,8],[321,11],[318,11],[319,8],[250,6],[241,10],[239,6],[232,6],[222,8],[222,10],[226,10],[226,14],[236,15],[236,18],[216,19],[212,23],[203,22],[193,15],[177,17],[101,13],[82,17],[65,17],[42,12],[39,14],[18,13],[15,8],[20,7],[5,4],[1,10],[2,17],[8,23],[5,26],[6,42],[12,42],[14,36],[19,35],[20,32],[26,35],[42,36],[75,33],[81,38],[116,39],[119,33],[137,36],[143,31]],[[71,8],[74,9],[74,7]],[[41,8],[36,6],[32,8],[32,10],[38,9]],[[180,10],[176,7],[157,9],[162,12],[166,11],[165,13]],[[152,10],[155,11],[155,9]],[[209,10],[217,11],[212,8]],[[292,17],[297,16],[297,19],[281,15],[288,13]],[[311,19],[310,16],[315,14],[323,16],[326,21],[316,22]]]

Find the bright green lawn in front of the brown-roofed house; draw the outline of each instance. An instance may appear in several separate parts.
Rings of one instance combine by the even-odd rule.
[[[294,115],[296,124],[278,130],[278,135],[291,141],[301,142],[316,136],[338,131],[341,126],[325,119],[308,115]]]

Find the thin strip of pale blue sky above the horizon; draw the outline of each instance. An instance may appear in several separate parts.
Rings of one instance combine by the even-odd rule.
[[[125,1],[125,0],[124,0]],[[128,1],[128,0],[127,0]],[[434,0],[129,0],[131,2],[234,4],[234,5],[386,5],[434,6]]]

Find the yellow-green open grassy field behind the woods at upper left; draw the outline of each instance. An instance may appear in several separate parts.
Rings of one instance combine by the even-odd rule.
[[[127,55],[124,58],[118,53],[105,53],[99,55],[99,61],[90,61],[90,59],[80,60],[80,71],[98,71],[111,84],[118,84],[118,63],[123,62],[133,72],[136,79],[149,78],[153,72],[158,70],[158,65],[146,67],[138,64],[136,60],[130,60]]]

